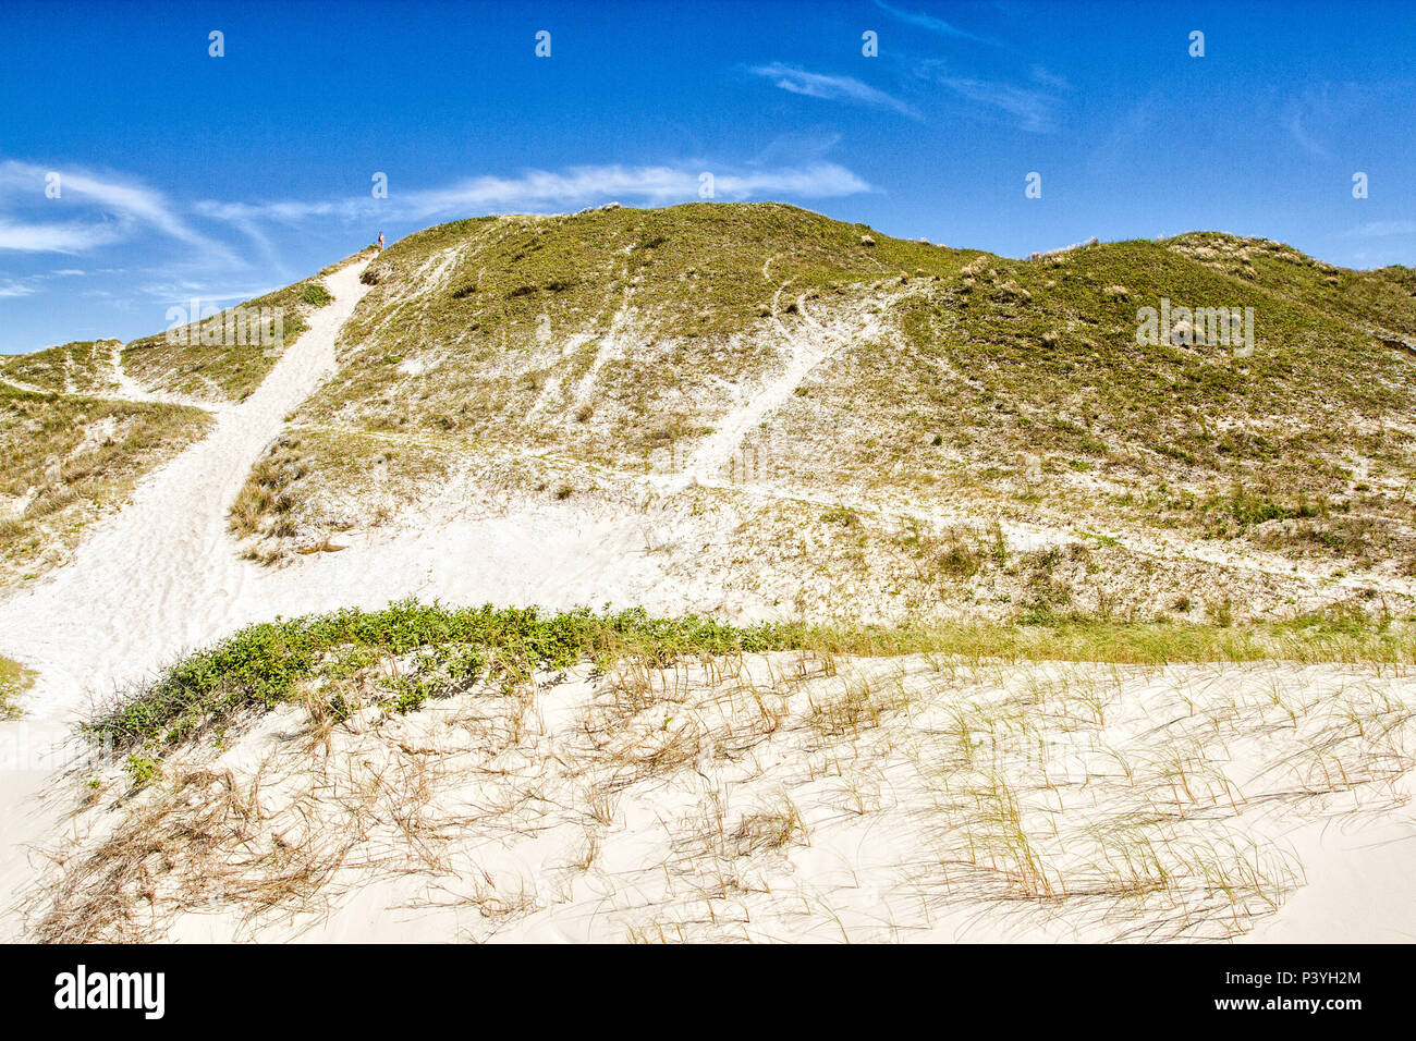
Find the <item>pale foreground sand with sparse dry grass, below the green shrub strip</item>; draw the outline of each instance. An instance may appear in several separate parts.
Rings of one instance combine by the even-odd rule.
[[[389,673],[411,661],[387,660]],[[1416,938],[1409,681],[775,653],[268,717],[125,797],[45,939]],[[1403,855],[1406,854],[1406,855]],[[1359,887],[1359,888],[1355,888]]]

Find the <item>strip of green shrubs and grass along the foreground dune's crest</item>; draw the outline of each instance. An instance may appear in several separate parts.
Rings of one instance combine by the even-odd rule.
[[[558,671],[579,661],[654,669],[773,650],[967,661],[1410,664],[1416,623],[1338,612],[1240,627],[1035,612],[1022,623],[847,629],[794,622],[732,626],[692,615],[651,618],[643,609],[555,615],[490,605],[455,609],[408,599],[377,612],[347,609],[242,629],[120,698],[88,729],[119,751],[160,753],[280,704],[343,719],[361,707],[406,712],[474,684],[508,691],[537,670]]]

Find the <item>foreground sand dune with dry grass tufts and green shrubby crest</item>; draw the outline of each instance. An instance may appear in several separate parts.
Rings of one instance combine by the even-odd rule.
[[[1303,836],[1402,826],[1412,657],[1409,622],[1348,618],[252,626],[99,721],[204,739],[71,775],[30,935],[1233,939],[1303,884]]]

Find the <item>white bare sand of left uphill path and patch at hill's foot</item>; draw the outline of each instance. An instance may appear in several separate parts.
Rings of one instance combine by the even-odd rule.
[[[310,316],[309,330],[246,401],[218,409],[207,438],[144,479],[133,503],[95,525],[58,572],[0,602],[0,652],[38,673],[25,717],[0,722],[0,806],[8,807],[0,891],[17,892],[33,875],[30,846],[52,834],[59,812],[34,799],[48,770],[13,766],[59,761],[62,752],[48,746],[68,741],[93,698],[241,625],[350,603],[378,608],[408,593],[549,606],[664,603],[653,595],[658,571],[641,567],[634,525],[568,510],[462,523],[394,545],[355,541],[287,569],[238,557],[231,503],[285,416],[334,371],[340,329],[368,292],[358,280],[365,266],[327,279],[334,302]],[[14,915],[0,914],[0,936],[14,935]]]

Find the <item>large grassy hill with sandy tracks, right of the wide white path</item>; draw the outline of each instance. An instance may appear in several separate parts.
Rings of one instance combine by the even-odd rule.
[[[456,486],[649,494],[700,525],[670,568],[835,613],[1410,593],[1409,269],[1214,232],[1012,261],[690,204],[439,225],[364,278],[234,513],[268,561]],[[1252,307],[1255,343],[1138,343],[1163,299]]]

